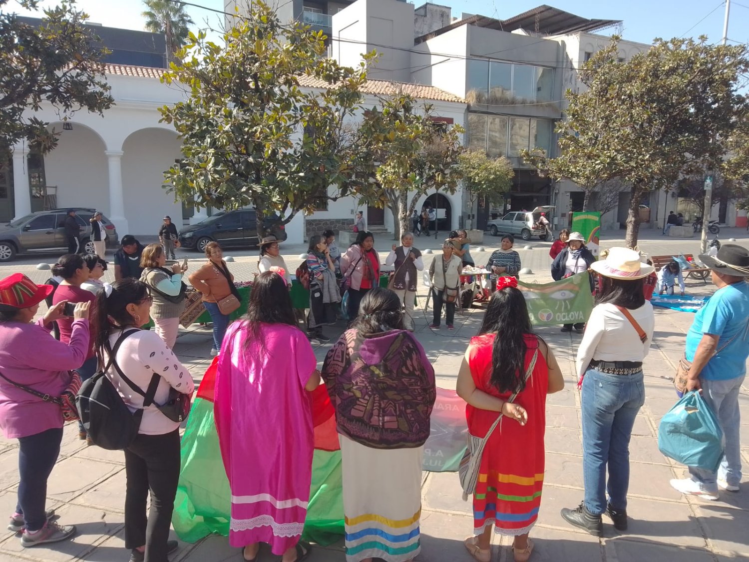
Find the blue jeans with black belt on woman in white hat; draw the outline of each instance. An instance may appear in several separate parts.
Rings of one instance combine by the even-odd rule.
[[[642,371],[634,375],[586,371],[582,392],[583,482],[585,507],[590,513],[601,515],[606,511],[607,490],[613,508],[627,508],[629,438],[644,403]]]

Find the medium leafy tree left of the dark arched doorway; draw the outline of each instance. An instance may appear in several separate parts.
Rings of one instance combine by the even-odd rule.
[[[407,232],[416,202],[427,193],[455,193],[463,152],[459,125],[437,120],[434,106],[417,106],[409,94],[381,97],[365,112],[360,125],[360,151],[369,163],[365,176],[376,182],[357,185],[356,193],[369,205],[388,208],[395,223],[395,238]]]

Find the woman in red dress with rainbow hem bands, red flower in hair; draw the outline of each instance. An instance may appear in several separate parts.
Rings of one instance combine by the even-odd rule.
[[[533,333],[515,277],[500,277],[479,335],[471,339],[460,372],[458,395],[467,402],[471,435],[484,436],[503,414],[486,444],[473,494],[473,531],[465,540],[479,562],[491,559],[491,529],[515,537],[515,562],[533,551],[544,483],[546,395],[564,388],[551,348]],[[509,402],[517,392],[514,402]],[[509,451],[522,451],[508,454]]]

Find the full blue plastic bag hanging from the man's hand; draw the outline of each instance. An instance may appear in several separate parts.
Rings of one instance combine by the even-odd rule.
[[[699,392],[686,393],[661,419],[658,450],[682,465],[718,470],[723,458],[723,431]]]

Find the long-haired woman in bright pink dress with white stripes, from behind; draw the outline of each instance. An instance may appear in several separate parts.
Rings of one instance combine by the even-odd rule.
[[[302,561],[312,478],[317,360],[297,328],[282,272],[255,279],[247,314],[228,328],[216,370],[214,414],[231,486],[229,543],[255,561],[260,543]]]

